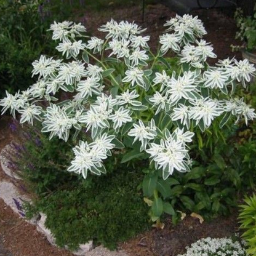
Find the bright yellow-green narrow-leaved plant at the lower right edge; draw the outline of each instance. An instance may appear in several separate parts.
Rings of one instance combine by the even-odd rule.
[[[239,214],[240,228],[246,230],[242,238],[247,242],[247,254],[256,255],[256,195],[246,196]]]

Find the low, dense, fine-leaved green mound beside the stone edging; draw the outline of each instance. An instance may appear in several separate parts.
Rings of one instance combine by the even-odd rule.
[[[71,190],[58,190],[38,201],[38,209],[47,214],[46,226],[58,246],[75,249],[94,242],[114,249],[149,226],[148,207],[136,190],[142,174],[129,169],[78,183]]]

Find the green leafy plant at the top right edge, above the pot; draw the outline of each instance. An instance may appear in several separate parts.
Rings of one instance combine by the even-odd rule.
[[[250,52],[255,52],[256,49],[256,4],[254,6],[254,12],[251,16],[244,16],[242,9],[236,11],[235,17],[236,24],[239,28],[236,33],[236,38],[245,42],[245,47]],[[234,48],[237,48],[234,46]]]

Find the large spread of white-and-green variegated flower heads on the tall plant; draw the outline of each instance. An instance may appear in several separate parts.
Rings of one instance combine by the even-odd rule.
[[[68,169],[84,178],[88,171],[104,173],[103,160],[114,147],[124,147],[125,137],[139,145],[138,152],[150,155],[164,179],[174,170],[188,171],[192,127],[204,131],[221,115],[222,126],[231,116],[246,124],[256,118],[243,98],[233,96],[236,87],[247,87],[255,68],[248,60],[234,59],[209,66],[207,58],[216,55],[201,39],[206,31],[197,17],[177,16],[166,26],[154,55],[150,36],[142,36],[145,30],[135,23],[111,20],[99,29],[105,39],[86,42],[80,23],[54,23],[52,38],[60,41],[57,50],[65,60],[42,55],[33,62],[32,75],[38,81],[24,92],[6,92],[0,100],[2,113],[9,109],[15,116],[17,111],[22,123],[38,119],[42,132],[65,141],[86,129],[92,141],[74,148]],[[169,50],[178,54],[179,74],[166,64],[162,71],[156,66],[167,62],[162,55]],[[62,91],[73,98],[60,101]]]

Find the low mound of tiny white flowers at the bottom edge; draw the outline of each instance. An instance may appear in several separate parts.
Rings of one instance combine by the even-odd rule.
[[[178,256],[246,256],[244,246],[231,238],[202,238]]]

